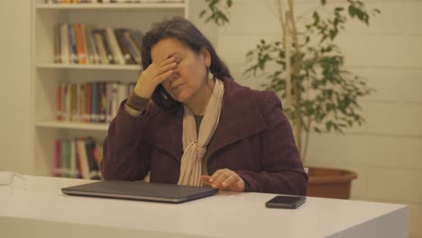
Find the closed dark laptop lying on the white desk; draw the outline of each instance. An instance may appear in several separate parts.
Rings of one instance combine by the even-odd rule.
[[[143,181],[105,180],[68,188],[64,194],[111,197],[144,201],[183,203],[218,192],[218,188],[180,186],[175,184],[145,183]]]

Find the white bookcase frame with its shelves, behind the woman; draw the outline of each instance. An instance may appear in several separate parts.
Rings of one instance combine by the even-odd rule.
[[[79,65],[54,62],[54,28],[58,23],[85,23],[99,28],[129,28],[146,32],[172,16],[195,23],[205,1],[144,4],[45,4],[32,0],[32,122],[34,174],[50,176],[56,140],[105,138],[108,124],[58,121],[60,83],[136,82],[138,65]],[[197,20],[198,21],[198,20]]]

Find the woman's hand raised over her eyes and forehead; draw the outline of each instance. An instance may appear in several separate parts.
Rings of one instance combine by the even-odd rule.
[[[170,78],[175,72],[177,63],[174,57],[166,56],[164,59],[151,63],[144,69],[136,82],[133,91],[137,96],[150,99],[155,88],[164,80]]]

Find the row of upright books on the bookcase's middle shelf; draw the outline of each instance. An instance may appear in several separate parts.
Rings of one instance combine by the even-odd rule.
[[[57,87],[57,120],[110,123],[135,83],[65,83]]]

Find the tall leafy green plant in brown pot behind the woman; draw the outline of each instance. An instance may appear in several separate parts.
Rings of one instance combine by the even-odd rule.
[[[207,8],[200,13],[206,22],[229,22],[226,10],[233,7],[231,0],[206,2]],[[358,99],[369,95],[372,88],[344,68],[344,55],[335,39],[348,20],[369,24],[370,15],[380,11],[370,13],[362,1],[327,5],[320,0],[311,14],[297,16],[293,0],[274,2],[280,39],[261,40],[249,50],[245,74],[266,78],[262,86],[280,96],[306,166],[309,133],[344,133],[364,122]],[[307,196],[349,198],[354,178],[356,173],[345,169],[309,168]]]

